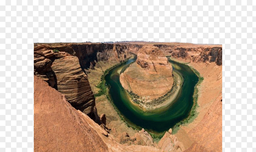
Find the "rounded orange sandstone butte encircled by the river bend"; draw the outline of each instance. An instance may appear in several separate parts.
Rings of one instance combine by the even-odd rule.
[[[142,47],[137,60],[121,75],[120,82],[129,92],[145,99],[165,95],[173,85],[172,66],[157,47]]]

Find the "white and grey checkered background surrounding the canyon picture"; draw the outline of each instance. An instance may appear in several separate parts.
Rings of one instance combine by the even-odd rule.
[[[33,151],[33,43],[123,40],[223,44],[222,150],[256,151],[255,4],[2,0],[0,151]]]

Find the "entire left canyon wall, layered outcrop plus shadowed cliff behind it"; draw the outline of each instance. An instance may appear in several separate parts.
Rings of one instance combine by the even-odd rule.
[[[134,46],[131,47],[133,50]],[[53,52],[53,50],[59,52]],[[86,73],[98,61],[121,62],[131,56],[126,45],[48,43],[34,44],[34,75],[63,93],[71,105],[101,123]]]

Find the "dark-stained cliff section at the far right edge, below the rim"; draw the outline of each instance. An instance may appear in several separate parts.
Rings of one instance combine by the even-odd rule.
[[[193,62],[215,62],[222,65],[222,47],[207,47],[199,56],[193,58]]]

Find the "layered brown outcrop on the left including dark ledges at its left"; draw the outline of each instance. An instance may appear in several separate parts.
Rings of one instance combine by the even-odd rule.
[[[53,53],[45,46],[35,47],[34,74],[66,95],[74,108],[100,124],[87,75],[82,71],[76,56],[66,52]]]

